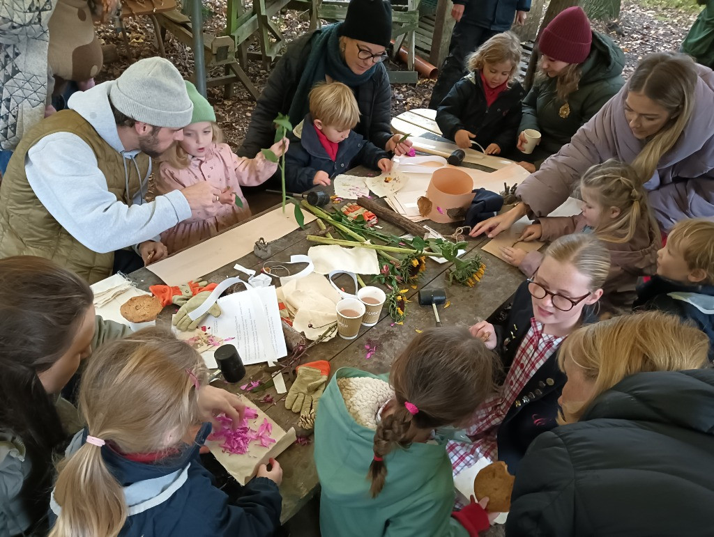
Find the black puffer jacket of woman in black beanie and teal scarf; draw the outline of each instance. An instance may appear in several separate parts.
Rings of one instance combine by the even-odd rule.
[[[275,141],[273,120],[278,116],[278,112],[287,114],[290,111],[300,76],[312,50],[311,40],[319,31],[313,31],[296,39],[278,61],[268,77],[266,88],[258,98],[248,126],[246,140],[237,151],[238,156],[253,158],[261,149],[273,145]],[[354,93],[359,107],[360,122],[353,131],[383,149],[392,135],[389,126],[392,92],[384,65],[378,63],[372,77],[361,86],[354,88]]]

